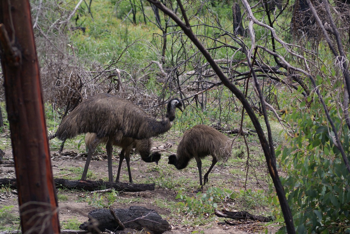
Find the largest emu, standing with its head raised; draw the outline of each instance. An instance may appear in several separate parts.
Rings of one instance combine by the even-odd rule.
[[[73,109],[50,139],[57,136],[65,141],[78,134],[95,133],[97,139],[106,142],[108,162],[112,163],[113,142],[121,142],[123,137],[150,139],[167,132],[175,119],[176,108],[182,111],[182,102],[178,98],[171,99],[165,118],[157,121],[131,101],[108,93],[96,94]],[[109,181],[113,182],[110,166]]]

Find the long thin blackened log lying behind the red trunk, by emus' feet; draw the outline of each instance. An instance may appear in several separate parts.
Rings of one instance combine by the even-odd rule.
[[[56,188],[94,191],[101,188],[112,188],[118,192],[141,192],[154,190],[155,184],[129,184],[122,182],[92,181],[92,180],[68,180],[55,179]],[[15,178],[0,179],[0,186],[9,185],[11,189],[17,189]]]

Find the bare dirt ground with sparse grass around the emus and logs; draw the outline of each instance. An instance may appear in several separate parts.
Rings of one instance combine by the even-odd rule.
[[[165,136],[163,136],[165,137]],[[175,142],[166,142],[165,138],[158,138],[154,146],[167,145],[169,151],[176,152]],[[157,140],[157,139],[156,139]],[[175,143],[176,144],[176,143]],[[173,146],[170,147],[169,146]],[[114,149],[113,172],[117,172],[119,148]],[[77,150],[63,151],[64,155],[57,154],[57,151],[51,151],[52,171],[54,178],[80,179],[82,169],[85,165],[86,154]],[[97,155],[93,157],[88,173],[89,180],[103,179],[108,181],[107,160],[104,155],[104,148],[101,148]],[[234,220],[235,225],[228,225],[224,221],[228,219],[218,218],[214,214],[205,213],[204,215],[189,215],[181,210],[179,199],[175,199],[179,192],[188,198],[197,195],[193,191],[198,189],[199,176],[195,160],[192,160],[188,167],[183,170],[176,170],[173,165],[168,164],[167,156],[169,153],[161,152],[162,158],[159,164],[145,163],[140,160],[139,155],[132,155],[131,168],[134,183],[155,183],[155,190],[144,192],[118,192],[112,199],[113,208],[127,208],[133,205],[144,206],[158,212],[162,218],[166,219],[171,227],[166,233],[275,233],[280,224],[261,223],[252,220]],[[5,157],[12,158],[12,150],[5,151]],[[203,159],[203,175],[208,170],[211,163]],[[267,191],[270,183],[263,157],[259,150],[251,151],[250,159],[251,169],[246,174],[246,158],[233,157],[226,163],[217,163],[212,172],[209,174],[209,182],[205,186],[208,191],[211,187],[220,187],[230,189],[237,194],[236,199],[230,197],[218,203],[218,209],[226,208],[230,211],[248,211],[251,214],[260,214],[264,216],[271,215],[271,207],[268,207],[262,197],[259,196],[242,196],[246,188],[247,191]],[[247,176],[247,177],[246,177]],[[15,172],[13,166],[4,166],[0,164],[1,178],[14,178]],[[114,175],[115,178],[115,175]],[[121,182],[128,182],[126,163],[123,163],[121,172]],[[249,194],[247,192],[247,194]],[[253,193],[251,193],[253,194]],[[107,195],[99,194],[99,197],[88,191],[58,189],[59,219],[61,229],[72,229],[87,221],[87,214],[96,209],[98,204],[107,204],[111,201]],[[0,190],[0,209],[3,207],[12,207],[11,213],[18,216],[18,200],[14,191]],[[90,204],[89,204],[90,201]],[[205,204],[205,202],[204,202]],[[205,208],[205,207],[204,207]],[[18,218],[17,218],[18,219]],[[0,221],[1,224],[1,221]],[[1,226],[1,225],[0,225]],[[5,223],[10,229],[20,229],[19,221]],[[1,230],[0,230],[1,231]]]

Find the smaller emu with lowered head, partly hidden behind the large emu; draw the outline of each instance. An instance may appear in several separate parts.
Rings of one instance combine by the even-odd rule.
[[[96,133],[87,133],[85,136],[85,144],[86,148],[88,149],[87,153],[87,158],[86,158],[86,163],[84,167],[84,172],[82,176],[82,180],[86,180],[86,174],[87,174],[87,169],[89,168],[91,156],[93,152],[96,150],[96,147],[101,144],[101,143],[107,143],[108,137],[103,137],[103,138],[98,138]],[[123,163],[123,160],[125,158],[126,165],[128,167],[128,173],[129,173],[129,182],[133,183],[132,177],[131,177],[131,171],[130,171],[130,151],[135,148],[135,151],[138,151],[141,155],[141,158],[145,162],[155,162],[158,164],[158,161],[160,159],[161,154],[159,152],[153,152],[151,154],[150,149],[152,145],[152,140],[151,139],[142,139],[142,140],[136,140],[130,137],[119,137],[116,136],[114,139],[112,139],[112,145],[110,148],[107,148],[107,153],[108,157],[108,174],[110,178],[113,178],[112,174],[112,151],[113,151],[113,146],[119,146],[121,147],[121,152],[119,156],[119,167],[118,167],[118,173],[117,173],[117,178],[116,182],[119,182],[119,176],[120,176],[120,169],[121,169],[121,164]]]

